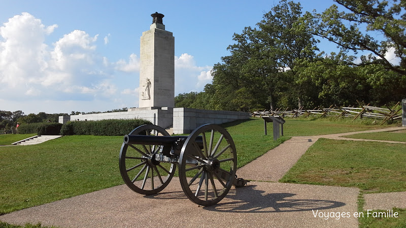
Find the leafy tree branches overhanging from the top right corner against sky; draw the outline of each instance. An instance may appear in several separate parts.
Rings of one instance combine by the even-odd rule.
[[[337,44],[344,51],[369,51],[369,61],[357,65],[382,64],[386,69],[406,74],[406,4],[403,0],[334,0],[349,13],[339,12],[336,5],[322,14],[314,14],[314,34]],[[398,3],[398,4],[397,4]],[[309,15],[308,15],[309,16]],[[365,28],[365,31],[361,31]],[[371,33],[373,32],[373,33]],[[382,41],[374,34],[383,34]],[[395,65],[386,53],[394,49],[400,64]],[[364,57],[365,58],[365,57]],[[355,64],[348,62],[347,64]]]

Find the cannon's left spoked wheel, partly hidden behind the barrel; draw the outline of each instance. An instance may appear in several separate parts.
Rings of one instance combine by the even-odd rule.
[[[165,129],[156,125],[142,125],[129,135],[170,136]],[[160,164],[153,161],[160,145],[129,145],[123,143],[120,150],[119,166],[121,177],[134,192],[152,195],[162,191],[174,176],[176,164]]]

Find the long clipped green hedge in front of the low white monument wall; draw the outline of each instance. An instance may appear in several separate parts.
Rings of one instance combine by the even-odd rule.
[[[60,130],[60,134],[119,136],[126,135],[134,128],[144,124],[151,124],[151,122],[142,119],[73,121],[64,124]]]

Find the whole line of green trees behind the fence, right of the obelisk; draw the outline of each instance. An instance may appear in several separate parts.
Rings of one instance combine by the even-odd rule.
[[[248,111],[406,98],[406,5],[334,2],[346,11],[332,5],[321,14],[302,13],[300,3],[282,0],[255,27],[234,33],[230,55],[213,67],[213,82],[203,92],[179,94],[175,106]],[[340,51],[319,50],[318,39]],[[357,58],[360,51],[369,54]]]

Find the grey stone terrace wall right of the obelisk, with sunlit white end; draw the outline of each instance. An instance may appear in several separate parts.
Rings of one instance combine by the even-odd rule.
[[[187,134],[204,124],[223,124],[249,119],[248,112],[174,108],[174,134]]]

